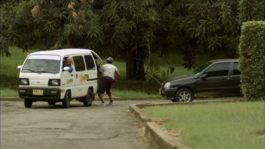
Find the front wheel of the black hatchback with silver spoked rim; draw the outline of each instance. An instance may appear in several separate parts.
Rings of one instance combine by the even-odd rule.
[[[190,89],[180,89],[175,95],[175,100],[178,102],[192,102],[193,101],[193,93]]]

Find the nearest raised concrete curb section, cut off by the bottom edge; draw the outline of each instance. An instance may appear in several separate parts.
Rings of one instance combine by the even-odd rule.
[[[163,132],[163,130],[153,122],[146,123],[145,136],[156,149],[192,149],[184,146],[181,142]]]

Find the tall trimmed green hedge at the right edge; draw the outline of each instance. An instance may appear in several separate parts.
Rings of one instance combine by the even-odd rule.
[[[265,100],[265,22],[243,23],[239,44],[241,89],[248,101]]]

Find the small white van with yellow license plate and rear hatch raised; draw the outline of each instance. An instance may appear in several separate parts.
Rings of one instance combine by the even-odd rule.
[[[72,58],[73,72],[63,68],[63,60]],[[45,101],[49,105],[62,102],[69,108],[76,99],[91,106],[97,91],[97,66],[101,58],[92,50],[62,49],[34,52],[28,55],[23,66],[18,66],[19,97],[24,98],[25,107],[32,102]]]

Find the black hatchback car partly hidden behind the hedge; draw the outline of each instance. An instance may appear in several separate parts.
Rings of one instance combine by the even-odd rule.
[[[237,67],[237,59],[209,61],[190,74],[165,80],[159,94],[173,102],[191,102],[194,95],[242,95]]]

